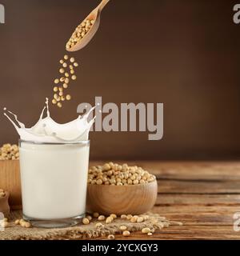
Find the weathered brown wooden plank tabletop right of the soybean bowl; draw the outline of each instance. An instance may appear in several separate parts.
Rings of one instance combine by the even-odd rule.
[[[91,162],[95,164],[95,162]],[[99,164],[99,162],[98,162]],[[129,162],[158,178],[154,213],[183,226],[170,226],[148,239],[240,239],[240,162]],[[116,239],[126,239],[117,235]],[[135,233],[128,239],[146,239]]]

